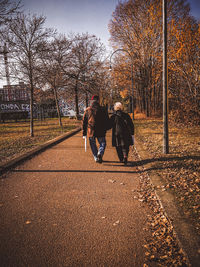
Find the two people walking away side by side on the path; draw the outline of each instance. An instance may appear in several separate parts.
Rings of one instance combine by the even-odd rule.
[[[112,128],[112,146],[116,147],[120,162],[127,165],[129,146],[134,144],[134,125],[128,113],[123,112],[123,105],[115,103],[114,113],[109,118],[107,110],[99,105],[99,97],[94,95],[91,105],[83,115],[83,138],[88,136],[94,160],[102,163],[106,149],[106,131]],[[99,143],[97,148],[96,140]]]

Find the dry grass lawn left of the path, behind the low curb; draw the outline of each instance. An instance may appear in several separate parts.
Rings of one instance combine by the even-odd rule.
[[[29,122],[8,122],[0,124],[0,163],[15,158],[33,147],[41,145],[80,125],[80,121],[62,118],[63,127],[58,119],[34,121],[34,137],[30,137]]]

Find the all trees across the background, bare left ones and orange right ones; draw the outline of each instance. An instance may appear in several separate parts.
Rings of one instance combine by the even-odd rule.
[[[168,0],[168,81],[171,117],[200,123],[200,23],[190,15],[187,0]],[[120,1],[109,23],[116,53],[113,71],[105,47],[95,35],[67,36],[45,27],[46,17],[24,14],[20,1],[0,0],[0,42],[6,43],[9,76],[30,87],[30,135],[33,104],[54,98],[62,126],[59,99],[79,100],[98,93],[108,101],[130,102],[133,63],[135,112],[162,113],[162,1]],[[1,65],[2,66],[2,65]],[[1,73],[2,74],[2,73]],[[3,74],[1,75],[3,76]]]

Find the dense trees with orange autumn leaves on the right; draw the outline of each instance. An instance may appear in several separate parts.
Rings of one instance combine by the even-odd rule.
[[[168,84],[171,117],[200,123],[200,22],[186,0],[168,0]],[[109,23],[114,49],[125,49],[134,64],[134,102],[147,116],[162,113],[162,1],[121,1]],[[117,53],[113,72],[116,90],[126,97],[130,60]]]

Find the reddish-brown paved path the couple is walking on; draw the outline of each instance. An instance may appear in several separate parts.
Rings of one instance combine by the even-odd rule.
[[[81,132],[24,162],[0,179],[1,266],[143,266],[150,210],[137,189],[110,132],[103,164]]]

